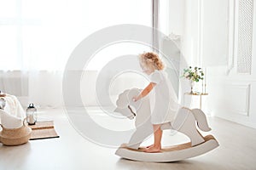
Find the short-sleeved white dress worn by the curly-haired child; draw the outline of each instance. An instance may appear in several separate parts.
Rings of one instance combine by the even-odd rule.
[[[179,108],[172,82],[165,71],[158,70],[151,73],[149,79],[150,82],[156,83],[149,94],[152,124],[172,122]]]

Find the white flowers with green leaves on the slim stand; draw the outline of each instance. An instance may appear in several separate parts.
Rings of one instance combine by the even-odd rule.
[[[192,69],[191,66],[189,66],[189,69],[183,70],[183,76],[184,78],[192,81],[192,82],[199,82],[200,80],[204,79],[204,73],[201,68],[195,66],[194,69]]]

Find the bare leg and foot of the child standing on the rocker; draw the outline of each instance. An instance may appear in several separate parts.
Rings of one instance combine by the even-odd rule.
[[[153,125],[154,128],[154,144],[151,145],[147,150],[144,150],[148,153],[160,152],[161,150],[161,139],[162,139],[162,130],[160,129],[161,125]]]

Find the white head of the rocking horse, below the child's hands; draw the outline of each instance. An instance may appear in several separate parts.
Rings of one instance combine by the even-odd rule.
[[[115,112],[121,113],[123,116],[133,119],[137,116],[137,110],[141,105],[141,101],[134,102],[132,98],[140,94],[141,89],[131,88],[119,94],[119,99],[116,101],[117,108]]]

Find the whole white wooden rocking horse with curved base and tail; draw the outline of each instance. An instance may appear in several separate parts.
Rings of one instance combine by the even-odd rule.
[[[135,125],[137,130],[132,134],[128,144],[122,144],[116,151],[117,156],[136,161],[180,161],[194,156],[200,156],[218,147],[218,141],[212,136],[203,137],[197,130],[208,132],[211,128],[208,126],[207,117],[200,109],[189,110],[181,108],[177,111],[177,116],[173,122],[166,122],[161,126],[162,130],[173,129],[177,132],[187,135],[189,143],[177,144],[162,148],[159,153],[145,153],[140,144],[149,135],[154,133],[150,122],[150,104],[146,97],[141,102],[133,102],[132,97],[140,93],[141,90],[131,88],[119,94],[117,100],[116,112],[127,116],[130,119],[136,117]],[[136,111],[134,111],[134,109]],[[195,122],[197,127],[195,126]]]

